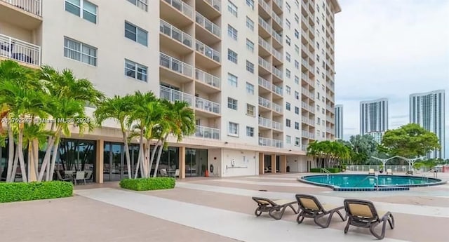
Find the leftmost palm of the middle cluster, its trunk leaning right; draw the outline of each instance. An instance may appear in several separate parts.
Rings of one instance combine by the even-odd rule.
[[[106,119],[115,119],[120,123],[123,142],[125,144],[126,165],[128,166],[128,177],[132,178],[129,144],[128,144],[128,120],[134,109],[133,97],[126,95],[124,97],[114,96],[107,98],[98,105],[94,112],[95,120],[101,126]]]

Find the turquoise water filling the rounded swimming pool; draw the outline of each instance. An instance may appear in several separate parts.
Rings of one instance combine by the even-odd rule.
[[[420,187],[441,182],[439,179],[400,175],[309,175],[302,177],[307,182],[333,187]]]

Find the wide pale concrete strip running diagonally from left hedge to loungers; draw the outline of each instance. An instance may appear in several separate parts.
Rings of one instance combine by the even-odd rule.
[[[181,186],[185,186],[185,183],[181,184]],[[215,189],[219,188],[215,187]],[[344,234],[343,231],[337,229],[319,229],[297,224],[295,221],[271,220],[267,217],[255,217],[229,210],[161,199],[132,191],[100,188],[76,190],[75,193],[89,199],[239,241],[373,241],[373,236],[351,233],[351,231]],[[400,242],[400,240],[384,238],[382,242]]]

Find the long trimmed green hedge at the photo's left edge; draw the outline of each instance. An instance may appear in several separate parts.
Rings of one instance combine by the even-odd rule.
[[[72,196],[71,182],[11,182],[0,183],[0,203],[30,201],[39,199],[58,199]]]

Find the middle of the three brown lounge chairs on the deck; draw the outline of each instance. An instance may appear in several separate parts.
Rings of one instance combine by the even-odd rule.
[[[346,220],[346,216],[340,213],[340,210],[344,209],[344,206],[334,206],[330,204],[321,204],[315,196],[306,194],[296,194],[296,200],[300,206],[301,213],[297,215],[296,222],[302,223],[304,217],[313,218],[316,225],[322,228],[329,227],[330,221],[334,213],[340,215],[342,221]],[[321,217],[329,215],[328,220],[325,223],[319,222]]]

